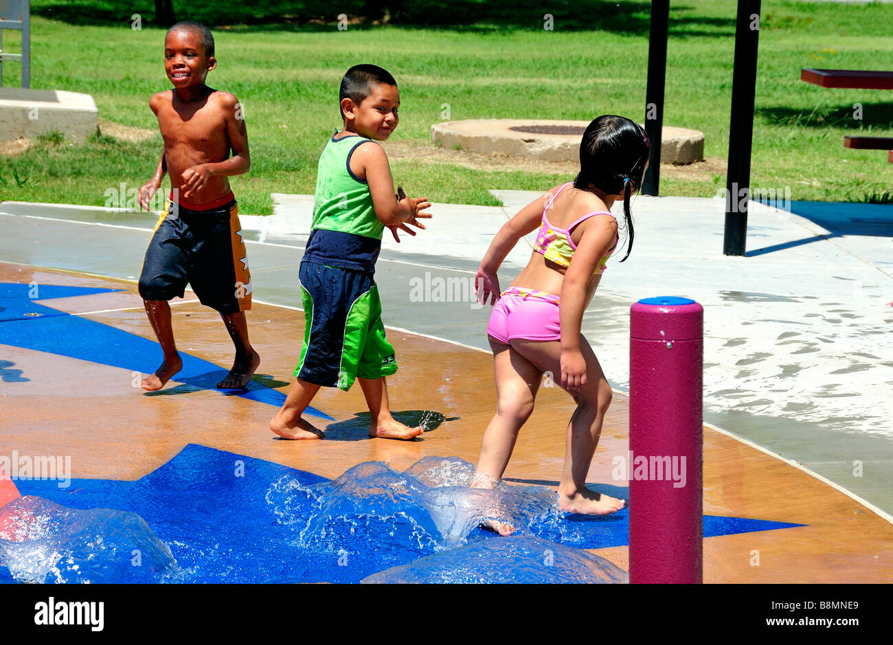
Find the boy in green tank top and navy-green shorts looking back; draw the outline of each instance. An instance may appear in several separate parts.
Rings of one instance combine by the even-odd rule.
[[[349,390],[360,381],[369,405],[369,436],[413,439],[409,428],[391,416],[385,377],[396,372],[394,348],[385,338],[381,302],[373,280],[381,235],[407,224],[424,229],[430,218],[426,197],[406,197],[391,177],[388,156],[376,141],[396,129],[400,94],[396,80],[375,65],[355,65],[341,80],[341,117],[322,151],[313,202],[313,224],[299,278],[304,302],[304,348],[288,398],[270,422],[286,439],[322,439],[302,418],[321,387]]]

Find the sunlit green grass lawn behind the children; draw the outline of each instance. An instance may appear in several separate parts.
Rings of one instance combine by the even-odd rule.
[[[146,23],[130,28],[130,14],[142,7],[151,15],[152,4],[135,3],[117,24],[117,14],[104,14],[100,25],[72,24],[88,18],[43,17],[52,15],[50,4],[33,4],[32,87],[88,93],[101,119],[157,129],[148,99],[170,87],[163,71],[163,29]],[[251,146],[251,172],[232,180],[240,211],[269,214],[271,192],[313,192],[317,157],[341,125],[338,82],[355,63],[380,64],[400,84],[394,140],[430,141],[430,125],[441,120],[445,103],[452,120],[589,120],[619,113],[641,121],[648,7],[627,4],[629,13],[607,25],[612,30],[580,29],[580,20],[563,22],[557,14],[551,31],[498,22],[455,29],[391,24],[338,31],[334,22],[312,29],[214,29],[218,68],[209,83],[243,103]],[[728,152],[735,11],[731,0],[671,5],[664,124],[704,131],[705,155],[722,159]],[[890,136],[893,94],[817,88],[799,77],[802,67],[893,69],[891,22],[893,4],[764,1],[755,188],[790,187],[793,199],[889,198],[893,164],[886,152],[849,150],[842,141],[858,130]],[[14,38],[4,37],[6,48],[17,50]],[[18,84],[17,68],[4,65],[4,85]],[[861,121],[853,118],[856,103],[863,106]],[[98,137],[82,146],[42,138],[21,155],[0,156],[0,199],[102,205],[108,188],[145,182],[160,151],[157,135],[141,143]],[[570,178],[424,159],[396,161],[392,171],[410,195],[463,204],[497,204],[487,188],[541,189]],[[661,194],[711,197],[724,184],[718,174],[703,180],[663,174]]]

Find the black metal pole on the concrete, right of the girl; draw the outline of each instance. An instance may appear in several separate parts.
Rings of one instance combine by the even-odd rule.
[[[750,200],[750,149],[754,140],[756,46],[760,38],[760,0],[739,0],[735,29],[735,69],[731,81],[729,172],[723,255],[744,255]]]

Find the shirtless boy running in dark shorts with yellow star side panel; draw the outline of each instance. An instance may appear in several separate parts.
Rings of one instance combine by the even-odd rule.
[[[204,84],[217,66],[211,31],[178,22],[164,38],[164,70],[173,89],[149,100],[164,149],[154,176],[139,189],[139,204],[171,176],[171,201],[155,225],[139,276],[139,295],[164,352],[144,390],[161,390],[182,368],[171,328],[168,300],[183,297],[187,283],[205,306],[220,312],[236,346],[236,359],[220,389],[243,389],[260,364],[248,341],[251,276],[235,197],[228,177],[251,165],[248,136],[236,96]],[[232,155],[230,156],[230,151]]]

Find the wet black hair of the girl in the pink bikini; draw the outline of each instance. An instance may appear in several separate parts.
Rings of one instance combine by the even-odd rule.
[[[630,256],[635,236],[630,194],[641,188],[639,184],[650,153],[651,146],[645,129],[635,121],[616,114],[605,114],[594,119],[580,142],[580,173],[573,180],[573,187],[585,190],[595,186],[608,195],[623,196],[623,214],[628,231],[623,260]]]

